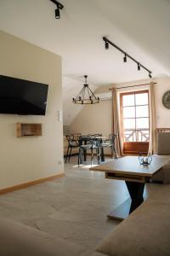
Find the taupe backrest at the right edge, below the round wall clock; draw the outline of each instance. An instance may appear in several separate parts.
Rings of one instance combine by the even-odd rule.
[[[170,154],[170,132],[158,132],[157,154]]]

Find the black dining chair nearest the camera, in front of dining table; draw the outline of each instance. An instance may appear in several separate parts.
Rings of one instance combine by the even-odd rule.
[[[87,151],[90,150],[91,155],[91,166],[94,162],[94,150],[98,155],[98,143],[95,142],[94,138],[91,136],[81,136],[79,137],[79,154],[78,154],[78,166],[82,163],[82,156],[86,160]]]

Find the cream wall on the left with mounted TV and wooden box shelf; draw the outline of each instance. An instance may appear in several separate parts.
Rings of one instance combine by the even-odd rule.
[[[0,31],[0,74],[48,84],[45,116],[0,114],[0,189],[64,172],[61,59]],[[42,123],[42,137],[16,137],[16,123]]]

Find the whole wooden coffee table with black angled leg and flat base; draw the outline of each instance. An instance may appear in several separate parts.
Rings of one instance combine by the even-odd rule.
[[[124,180],[127,185],[130,198],[109,213],[108,218],[122,220],[139,207],[144,201],[144,184],[167,162],[168,158],[153,155],[150,165],[142,166],[139,164],[138,156],[125,156],[100,166],[91,167],[90,171],[105,172],[106,178]]]

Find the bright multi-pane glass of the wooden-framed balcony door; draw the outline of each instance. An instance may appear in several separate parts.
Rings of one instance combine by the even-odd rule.
[[[122,134],[126,142],[149,142],[148,90],[121,94]]]

